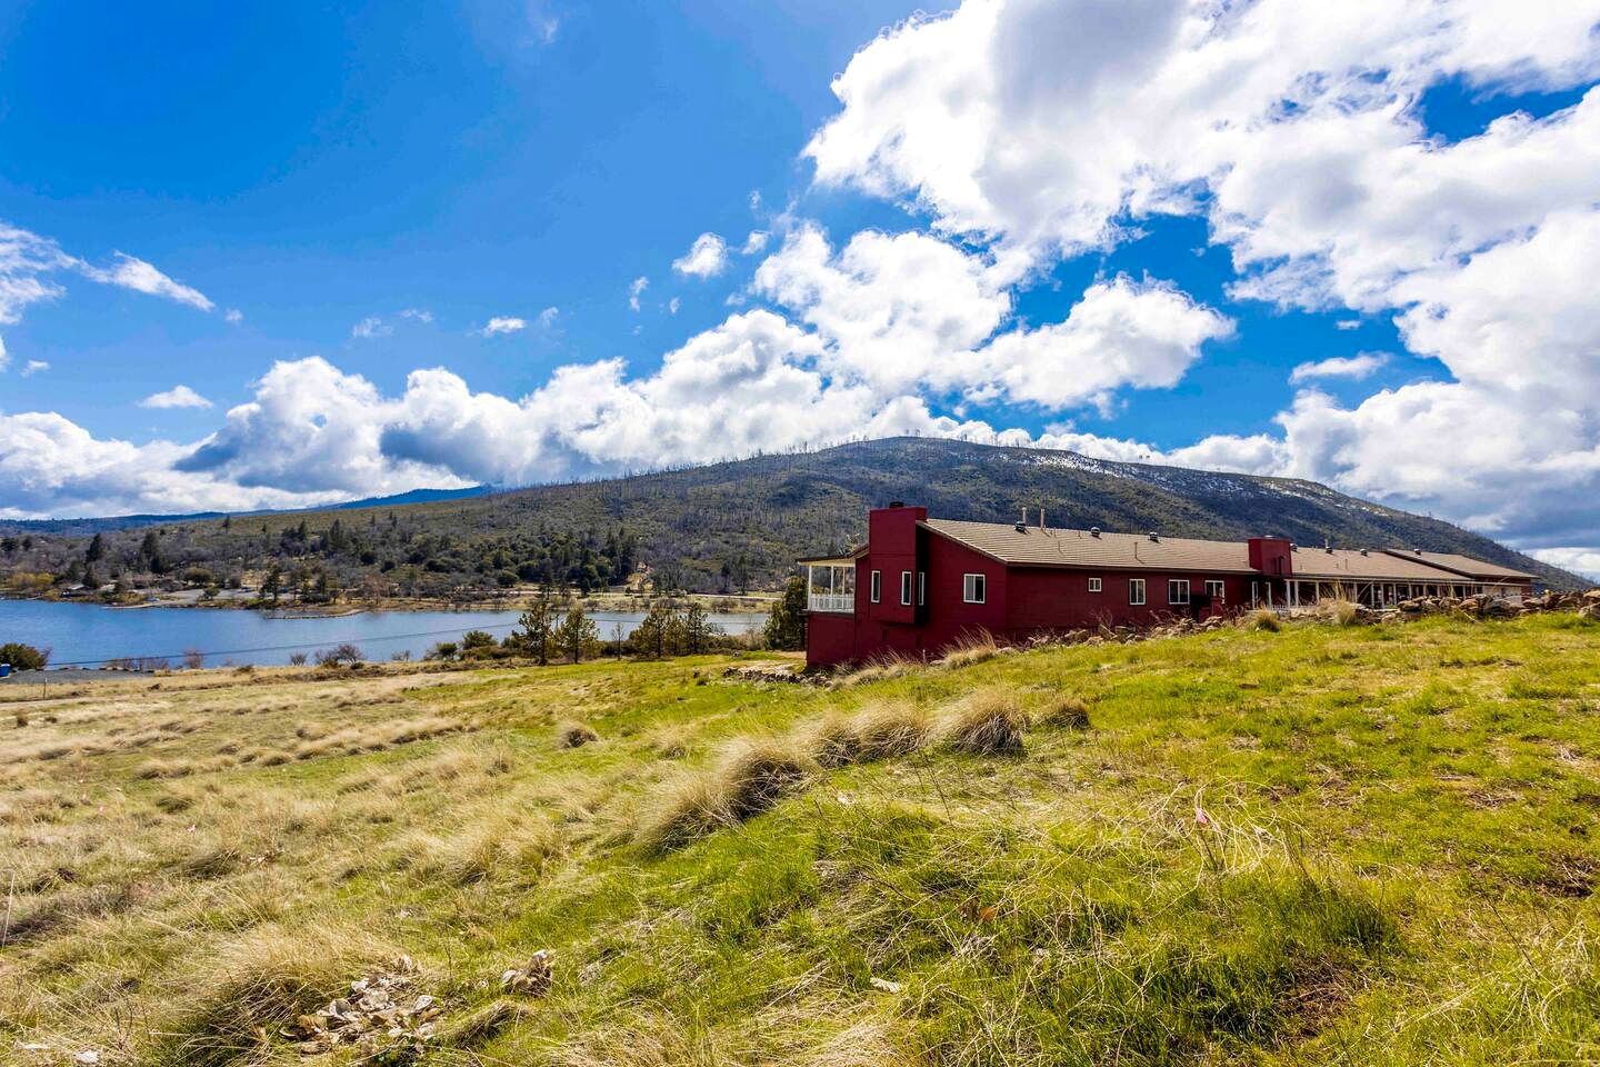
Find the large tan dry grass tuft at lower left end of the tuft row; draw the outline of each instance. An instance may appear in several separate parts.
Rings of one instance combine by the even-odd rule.
[[[654,853],[680,848],[766,811],[816,771],[816,760],[795,737],[734,742],[712,771],[667,784],[640,819],[634,840]]]

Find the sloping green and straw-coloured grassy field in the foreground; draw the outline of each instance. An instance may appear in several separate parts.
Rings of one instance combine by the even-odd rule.
[[[968,659],[0,694],[0,1061],[1600,1059],[1600,624]]]

